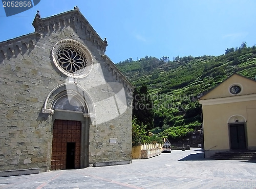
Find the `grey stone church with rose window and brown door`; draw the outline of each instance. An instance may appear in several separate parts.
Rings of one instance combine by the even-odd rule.
[[[0,171],[131,163],[133,85],[78,7],[0,43]]]

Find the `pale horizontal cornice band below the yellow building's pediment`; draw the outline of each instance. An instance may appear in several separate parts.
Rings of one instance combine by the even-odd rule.
[[[245,101],[253,101],[253,100],[256,100],[256,94],[199,100],[199,103],[202,104],[202,106],[208,106],[208,105],[227,104],[227,103],[245,102]]]

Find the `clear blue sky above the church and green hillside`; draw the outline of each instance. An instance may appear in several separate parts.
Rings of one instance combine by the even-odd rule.
[[[254,0],[41,0],[35,7],[6,17],[0,8],[0,41],[34,32],[41,18],[78,6],[99,36],[108,40],[106,55],[115,63],[152,56],[222,55],[226,48],[256,44]]]

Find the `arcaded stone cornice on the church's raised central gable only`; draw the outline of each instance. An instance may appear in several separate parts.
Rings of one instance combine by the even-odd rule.
[[[74,29],[80,28],[84,31],[86,39],[91,41],[98,50],[105,52],[106,46],[108,46],[93,29],[88,20],[80,13],[79,9],[60,13],[48,18],[35,17],[32,25],[35,28],[35,32],[44,35],[68,26],[74,27]]]

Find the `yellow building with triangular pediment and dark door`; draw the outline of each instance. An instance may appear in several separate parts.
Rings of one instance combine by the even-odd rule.
[[[199,100],[205,157],[256,149],[256,81],[233,74]]]

